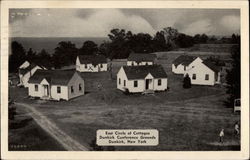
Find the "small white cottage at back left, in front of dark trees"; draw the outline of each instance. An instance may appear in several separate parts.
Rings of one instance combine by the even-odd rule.
[[[76,70],[79,72],[107,71],[107,59],[103,55],[79,55],[76,58]]]

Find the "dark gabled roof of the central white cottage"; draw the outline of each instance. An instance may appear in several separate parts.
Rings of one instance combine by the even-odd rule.
[[[167,78],[167,74],[161,65],[123,66],[129,80],[145,79],[150,73],[154,78]]]

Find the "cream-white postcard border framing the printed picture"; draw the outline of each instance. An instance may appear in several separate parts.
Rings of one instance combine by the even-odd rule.
[[[9,152],[8,151],[8,9],[9,8],[221,8],[241,9],[241,151]],[[1,3],[1,150],[3,159],[248,159],[249,19],[247,1],[3,1]]]

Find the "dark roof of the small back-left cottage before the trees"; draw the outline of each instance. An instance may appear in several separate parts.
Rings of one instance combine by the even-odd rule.
[[[79,55],[81,64],[93,64],[98,65],[101,63],[107,63],[107,59],[103,55]]]

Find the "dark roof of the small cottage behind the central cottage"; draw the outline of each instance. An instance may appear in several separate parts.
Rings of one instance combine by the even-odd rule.
[[[150,53],[131,53],[128,57],[128,61],[136,61],[137,63],[140,62],[154,62],[156,59],[155,54]]]

